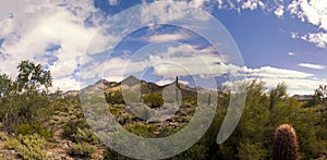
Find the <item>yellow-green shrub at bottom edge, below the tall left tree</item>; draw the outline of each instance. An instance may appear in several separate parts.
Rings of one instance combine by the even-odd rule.
[[[20,156],[24,159],[35,159],[41,160],[46,158],[45,152],[43,151],[44,146],[46,145],[46,139],[37,134],[33,135],[20,135],[20,140],[22,145],[16,148]]]

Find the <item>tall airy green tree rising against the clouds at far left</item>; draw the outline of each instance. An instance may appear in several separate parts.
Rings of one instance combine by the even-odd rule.
[[[11,88],[11,94],[7,94],[7,103],[3,106],[5,111],[2,119],[3,130],[16,135],[26,131],[40,132],[49,115],[48,88],[52,85],[50,71],[45,71],[41,64],[29,61],[22,61],[17,69],[19,75],[14,82],[9,83],[5,76],[2,78],[2,82],[7,82],[3,86],[8,87],[10,84]]]

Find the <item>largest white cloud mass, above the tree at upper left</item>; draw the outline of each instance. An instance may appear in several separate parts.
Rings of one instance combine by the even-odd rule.
[[[1,71],[15,77],[16,64],[28,59],[48,66],[53,84],[63,79],[63,88],[69,88],[70,82],[74,86],[76,83],[71,76],[82,60],[84,63],[90,60],[85,51],[99,30],[98,23],[102,19],[93,2],[14,0],[1,3],[5,3],[0,7],[0,38],[4,38],[0,52],[5,54],[4,59],[0,59]],[[85,25],[86,20],[88,25]],[[105,42],[109,37],[100,38],[98,42]],[[60,48],[47,51],[49,45]],[[105,48],[107,46],[99,44],[92,51]]]

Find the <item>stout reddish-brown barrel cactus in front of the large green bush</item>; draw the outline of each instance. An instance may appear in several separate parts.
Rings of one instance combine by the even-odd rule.
[[[272,160],[298,160],[296,133],[289,124],[279,125],[275,131]]]

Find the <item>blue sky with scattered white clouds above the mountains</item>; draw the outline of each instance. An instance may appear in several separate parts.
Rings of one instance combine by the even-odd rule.
[[[204,87],[241,75],[313,94],[327,79],[323,1],[2,0],[0,73],[32,60],[63,90],[129,74]]]

